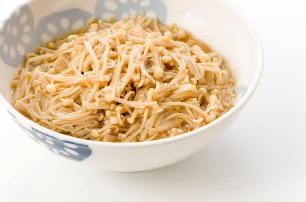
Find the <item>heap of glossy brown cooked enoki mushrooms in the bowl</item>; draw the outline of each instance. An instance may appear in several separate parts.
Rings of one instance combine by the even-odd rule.
[[[25,56],[11,81],[25,117],[73,137],[137,142],[195,130],[235,105],[221,54],[183,28],[143,12],[87,24]]]

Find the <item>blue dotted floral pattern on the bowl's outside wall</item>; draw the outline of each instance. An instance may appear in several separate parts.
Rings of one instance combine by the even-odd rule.
[[[44,132],[41,132],[33,127],[28,129],[20,124],[15,116],[9,112],[11,116],[14,118],[15,123],[27,133],[29,137],[31,137],[34,141],[39,143],[43,148],[52,151],[62,157],[68,158],[74,161],[82,161],[88,158],[92,151],[87,145],[81,145],[78,143],[59,140],[51,135],[48,135]]]

